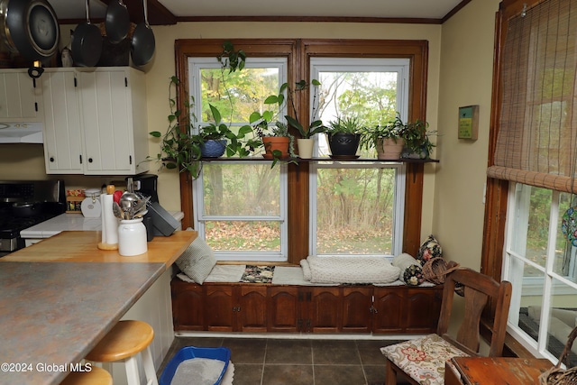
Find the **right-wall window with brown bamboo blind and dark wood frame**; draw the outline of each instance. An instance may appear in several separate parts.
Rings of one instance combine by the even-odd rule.
[[[509,333],[552,360],[577,323],[572,3],[511,1],[499,10],[499,115],[491,130],[482,262],[485,272],[513,284]]]

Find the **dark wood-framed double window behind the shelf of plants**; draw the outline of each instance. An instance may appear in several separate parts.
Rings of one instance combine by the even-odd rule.
[[[312,61],[334,60],[334,63],[337,63],[342,58],[352,58],[353,63],[357,64],[362,64],[362,61],[368,58],[371,60],[401,58],[405,60],[409,63],[410,71],[404,74],[402,84],[398,83],[395,87],[389,87],[388,83],[391,77],[398,81],[397,75],[391,75],[396,74],[397,69],[385,69],[382,64],[379,64],[380,69],[377,71],[356,70],[358,73],[374,72],[373,75],[382,72],[383,75],[382,79],[371,78],[369,85],[365,83],[366,90],[373,93],[371,100],[375,104],[364,105],[367,108],[363,115],[380,115],[385,110],[375,108],[376,103],[386,101],[389,104],[387,114],[391,116],[395,111],[399,111],[408,120],[426,120],[427,41],[234,39],[233,43],[235,49],[246,52],[247,68],[253,68],[255,72],[260,73],[261,80],[252,83],[254,87],[251,93],[243,92],[243,87],[240,87],[243,84],[241,79],[249,75],[247,68],[240,73],[238,71],[233,73],[234,77],[238,77],[238,82],[233,79],[225,83],[229,86],[230,92],[219,88],[222,81],[218,78],[219,63],[215,58],[222,53],[223,40],[175,41],[177,75],[183,84],[189,85],[189,95],[195,98],[197,108],[195,115],[198,124],[211,119],[209,108],[206,107],[208,102],[223,111],[225,122],[232,122],[233,126],[244,124],[242,116],[246,115],[234,114],[241,117],[231,118],[232,107],[229,107],[230,105],[250,111],[259,110],[258,104],[254,104],[258,103],[258,98],[253,97],[256,94],[273,94],[278,90],[278,85],[284,81],[295,84],[301,79],[319,78],[317,74],[311,73]],[[197,64],[191,64],[193,62]],[[398,65],[396,63],[394,66]],[[404,65],[400,64],[401,67]],[[276,69],[276,73],[279,74],[278,79],[273,74],[273,69]],[[337,69],[337,71],[340,70],[342,68]],[[332,69],[327,73],[330,71]],[[350,76],[354,75],[355,70],[345,69],[343,72],[347,71],[351,72]],[[329,84],[328,81],[325,83]],[[262,86],[270,88],[262,90]],[[387,89],[387,92],[396,92],[397,96],[382,98],[382,89]],[[400,97],[399,90],[405,92],[402,97]],[[298,118],[304,125],[308,124],[310,118],[308,95],[308,91],[305,91],[297,98]],[[188,95],[181,90],[178,97],[180,109],[184,109],[183,101],[187,98]],[[408,102],[405,105],[398,104],[400,100],[408,100]],[[386,115],[382,116],[384,118]],[[327,117],[327,119],[331,118],[332,116]],[[311,225],[311,216],[318,212],[316,208],[311,211],[310,203],[311,192],[316,192],[316,187],[310,186],[310,175],[316,171],[320,174],[326,172],[328,183],[330,183],[330,178],[333,178],[329,176],[329,173],[340,174],[344,171],[353,175],[354,179],[360,183],[359,186],[362,185],[365,189],[366,195],[362,200],[362,207],[353,206],[353,212],[349,211],[349,213],[357,215],[359,209],[364,213],[371,212],[374,218],[371,219],[371,224],[374,226],[363,227],[357,233],[359,236],[366,236],[362,233],[369,228],[370,243],[374,247],[371,246],[371,250],[361,250],[357,247],[356,250],[361,250],[359,253],[389,255],[389,252],[394,253],[400,248],[404,252],[416,254],[421,243],[423,163],[379,163],[378,165],[375,163],[371,167],[365,167],[367,166],[365,164],[360,169],[354,169],[356,166],[347,163],[342,170],[326,168],[316,171],[313,170],[312,163],[305,161],[299,162],[298,165],[288,164],[282,167],[277,165],[272,170],[270,170],[270,162],[266,163],[261,160],[245,162],[224,160],[203,164],[200,179],[191,181],[189,175],[180,175],[181,206],[185,213],[182,223],[185,227],[194,227],[201,236],[205,236],[208,243],[217,250],[220,259],[287,261],[289,264],[298,265],[299,261],[306,258],[316,247],[310,244],[316,234],[335,234],[333,224],[336,222],[326,222],[325,225],[321,225],[319,231]],[[242,171],[234,169],[237,166]],[[352,168],[349,169],[349,166]],[[410,175],[404,183],[399,182],[399,178],[403,175]],[[323,176],[321,175],[320,178],[322,179]],[[194,185],[194,188],[191,188],[191,185]],[[343,191],[349,188],[346,183],[342,186]],[[325,187],[328,185],[325,184]],[[247,192],[247,188],[251,189],[250,193]],[[243,199],[244,194],[248,194],[246,199]],[[319,203],[318,200],[317,203]],[[320,203],[325,204],[325,202]],[[321,210],[323,209],[321,207]],[[345,222],[347,221],[346,215],[342,218]],[[357,225],[362,223],[353,217],[350,218]],[[344,227],[343,231],[347,232],[354,226],[356,225]],[[234,234],[235,232],[242,234],[239,237]],[[401,240],[402,244],[399,244]],[[361,242],[357,241],[357,245],[360,244]],[[327,253],[332,253],[328,249],[325,250]]]

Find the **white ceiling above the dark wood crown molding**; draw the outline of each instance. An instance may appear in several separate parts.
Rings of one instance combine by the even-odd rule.
[[[82,0],[48,0],[60,23],[86,21],[86,2]],[[111,1],[91,0],[90,19],[102,21]],[[471,0],[148,0],[151,25],[175,24],[215,18],[338,18],[342,21],[364,18],[413,19],[417,23],[441,23],[444,18]],[[133,23],[143,19],[142,0],[123,0]]]

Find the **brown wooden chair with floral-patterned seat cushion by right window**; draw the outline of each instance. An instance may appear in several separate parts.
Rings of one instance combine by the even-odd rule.
[[[456,338],[453,338],[447,335],[447,330],[457,282],[462,284],[459,290],[463,290],[464,316]],[[387,358],[385,384],[396,384],[397,375],[400,375],[415,385],[443,385],[445,362],[456,356],[479,355],[481,313],[488,303],[495,309],[492,325],[487,325],[490,329],[489,356],[501,355],[510,299],[511,284],[508,281],[499,283],[470,269],[454,270],[448,274],[436,334],[380,349]]]

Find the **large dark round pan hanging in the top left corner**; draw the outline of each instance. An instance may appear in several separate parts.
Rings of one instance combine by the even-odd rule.
[[[9,50],[26,60],[45,60],[58,51],[60,27],[46,0],[0,0],[0,26]]]

